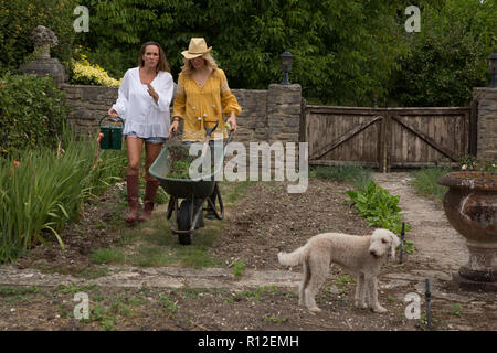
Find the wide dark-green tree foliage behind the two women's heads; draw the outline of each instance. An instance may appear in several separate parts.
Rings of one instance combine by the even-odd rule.
[[[402,4],[381,0],[81,2],[89,8],[92,28],[78,43],[91,60],[120,75],[136,64],[137,46],[155,40],[176,77],[190,38],[204,36],[232,87],[279,82],[279,55],[287,49],[295,56],[290,79],[306,96],[374,104],[384,99],[394,58],[404,50],[394,15]]]

